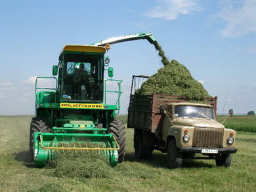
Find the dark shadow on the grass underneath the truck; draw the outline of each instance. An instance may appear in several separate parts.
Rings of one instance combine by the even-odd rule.
[[[144,163],[157,168],[168,168],[166,153],[155,152],[152,155],[152,159],[147,159],[147,160],[137,159],[135,157],[135,153],[125,153],[125,161]],[[182,163],[182,168],[213,167],[213,164],[210,164],[210,162],[214,160],[206,160],[206,161],[208,161],[209,163],[207,162],[205,163],[202,160],[184,159]]]

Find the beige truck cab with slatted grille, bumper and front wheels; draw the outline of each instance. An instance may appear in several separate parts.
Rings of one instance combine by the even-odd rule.
[[[213,107],[207,104],[171,103],[163,113],[162,140],[169,153],[169,161],[175,161],[171,166],[177,163],[177,160],[172,160],[173,153],[170,154],[173,148],[177,149],[176,155],[180,157],[194,157],[200,153],[200,159],[215,159],[217,165],[230,166],[230,153],[236,153],[236,132],[215,121]]]

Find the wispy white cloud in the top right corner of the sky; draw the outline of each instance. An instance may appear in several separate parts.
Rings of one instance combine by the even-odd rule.
[[[226,22],[223,37],[240,37],[256,32],[256,0],[220,1],[223,9],[216,15]]]

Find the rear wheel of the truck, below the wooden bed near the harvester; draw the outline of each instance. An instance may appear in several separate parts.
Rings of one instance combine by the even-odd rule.
[[[135,157],[138,159],[150,159],[152,157],[153,147],[143,145],[143,136],[141,134],[134,138]]]

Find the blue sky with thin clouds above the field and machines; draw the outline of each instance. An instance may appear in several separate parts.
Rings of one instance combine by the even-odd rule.
[[[0,115],[34,114],[34,79],[51,76],[64,45],[152,32],[186,66],[218,113],[256,111],[256,0],[0,0]],[[146,40],[112,45],[127,113],[132,75],[153,75],[160,57]]]

